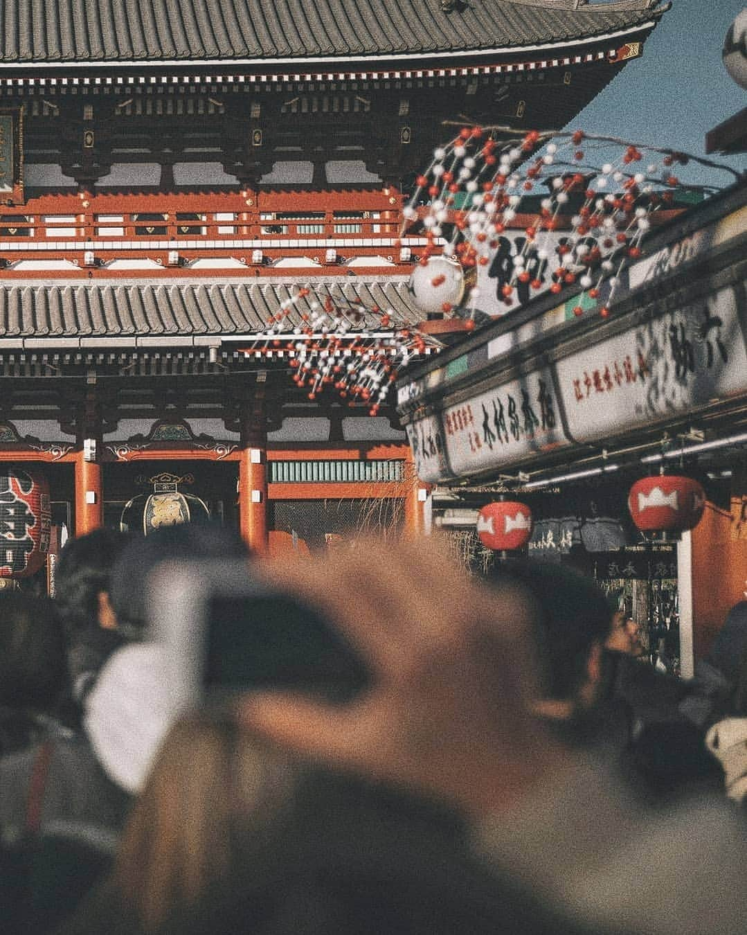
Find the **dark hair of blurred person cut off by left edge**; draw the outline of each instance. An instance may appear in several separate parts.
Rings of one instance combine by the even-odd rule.
[[[0,592],[0,704],[49,711],[66,686],[65,632],[50,599]]]

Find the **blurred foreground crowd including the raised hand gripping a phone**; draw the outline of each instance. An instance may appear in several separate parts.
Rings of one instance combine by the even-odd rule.
[[[162,592],[208,562],[303,612],[272,656],[242,597],[230,691],[189,695],[205,634],[165,637]],[[353,692],[348,656],[305,659],[319,626]],[[594,581],[477,579],[437,538],[280,563],[219,526],[100,529],[53,599],[0,592],[7,935],[741,935],[745,796],[747,601],[683,681]]]

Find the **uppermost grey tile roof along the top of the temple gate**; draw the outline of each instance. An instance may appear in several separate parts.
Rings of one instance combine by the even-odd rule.
[[[569,6],[563,0],[469,0],[447,13],[439,0],[3,0],[0,67],[271,64],[522,47],[625,30],[662,12],[642,8],[648,0]]]

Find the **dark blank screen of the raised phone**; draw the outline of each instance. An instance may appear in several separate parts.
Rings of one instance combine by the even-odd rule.
[[[211,597],[203,670],[208,695],[278,687],[344,701],[366,682],[366,668],[348,643],[294,598]]]

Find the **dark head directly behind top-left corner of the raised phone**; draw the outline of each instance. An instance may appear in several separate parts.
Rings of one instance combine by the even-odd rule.
[[[249,547],[237,530],[217,523],[160,526],[131,539],[112,570],[111,604],[120,624],[142,629],[148,622],[151,573],[161,562],[241,558]]]

